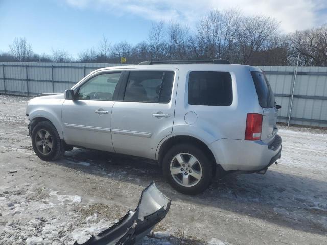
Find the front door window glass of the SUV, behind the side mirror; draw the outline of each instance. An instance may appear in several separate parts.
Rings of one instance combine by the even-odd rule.
[[[84,83],[78,92],[82,100],[112,100],[121,72],[100,74]]]

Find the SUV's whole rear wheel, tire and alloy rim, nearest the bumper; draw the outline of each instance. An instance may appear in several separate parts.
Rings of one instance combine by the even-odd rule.
[[[202,193],[212,179],[213,164],[205,153],[191,144],[173,146],[163,160],[170,185],[184,194]]]

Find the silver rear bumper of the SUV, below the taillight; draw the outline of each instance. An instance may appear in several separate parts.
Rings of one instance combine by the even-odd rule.
[[[266,169],[281,157],[282,139],[276,135],[270,144],[261,140],[221,139],[209,147],[217,164],[225,171],[256,172]]]

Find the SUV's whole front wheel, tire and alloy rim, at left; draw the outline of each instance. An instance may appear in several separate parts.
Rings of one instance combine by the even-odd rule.
[[[36,155],[46,161],[56,160],[65,152],[55,126],[49,121],[41,121],[34,126],[32,145]]]

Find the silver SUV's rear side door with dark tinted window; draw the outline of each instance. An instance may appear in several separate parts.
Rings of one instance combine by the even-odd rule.
[[[155,159],[173,130],[177,69],[126,70],[120,100],[112,108],[115,152]]]

